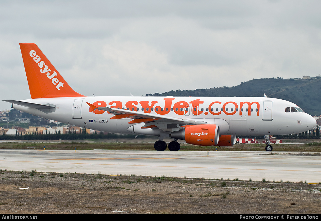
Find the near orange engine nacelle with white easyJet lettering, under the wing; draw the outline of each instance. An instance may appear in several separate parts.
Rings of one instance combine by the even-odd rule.
[[[184,130],[172,132],[170,137],[185,140],[188,144],[214,146],[219,142],[220,127],[215,124],[187,125]]]

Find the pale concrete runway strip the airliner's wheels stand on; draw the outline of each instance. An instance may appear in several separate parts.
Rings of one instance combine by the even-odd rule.
[[[277,153],[277,152],[273,152]],[[321,157],[268,152],[0,150],[2,170],[135,174],[262,181],[321,181]]]

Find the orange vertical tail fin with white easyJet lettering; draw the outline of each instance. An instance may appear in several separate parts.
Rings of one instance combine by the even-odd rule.
[[[20,44],[31,98],[83,97],[59,74],[36,44]]]

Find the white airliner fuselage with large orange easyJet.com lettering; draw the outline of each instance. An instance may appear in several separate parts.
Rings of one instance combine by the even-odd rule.
[[[133,126],[128,124],[132,119],[110,119],[114,115],[107,111],[89,112],[86,102],[97,107],[217,124],[220,126],[220,135],[293,134],[305,132],[316,125],[315,119],[307,113],[286,112],[286,108],[299,108],[296,104],[267,97],[63,97],[29,99],[23,102],[53,104],[56,108],[49,113],[17,104],[13,104],[13,108],[83,128],[124,134],[132,133],[128,130]],[[175,127],[172,126],[165,129],[169,132],[174,130]]]

